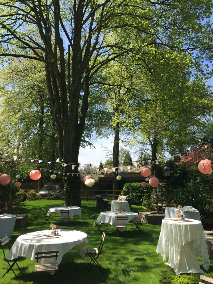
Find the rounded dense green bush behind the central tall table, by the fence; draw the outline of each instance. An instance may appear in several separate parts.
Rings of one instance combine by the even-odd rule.
[[[150,186],[142,187],[139,182],[125,183],[121,195],[132,199],[135,204],[141,204],[142,199],[151,197]]]

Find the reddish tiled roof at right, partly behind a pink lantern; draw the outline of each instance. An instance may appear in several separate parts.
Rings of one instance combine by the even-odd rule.
[[[188,168],[201,160],[213,160],[213,151],[210,147],[195,148],[177,160],[177,164],[185,164]]]

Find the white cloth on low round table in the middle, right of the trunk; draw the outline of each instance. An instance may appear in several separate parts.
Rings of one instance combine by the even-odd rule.
[[[111,211],[105,211],[105,212],[100,212],[98,219],[96,220],[97,224],[101,224],[101,223],[108,223],[110,225],[117,225],[117,217],[121,216],[121,217],[128,217],[127,223],[131,220],[133,221],[137,221],[140,219],[139,215],[137,213],[134,212],[124,212],[123,214],[115,214],[114,212]],[[121,223],[121,222],[120,222]],[[93,226],[95,226],[96,224],[94,223]]]

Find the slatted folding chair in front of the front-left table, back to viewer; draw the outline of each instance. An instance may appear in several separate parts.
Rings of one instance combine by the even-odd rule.
[[[51,250],[48,252],[35,252],[35,259],[36,259],[36,266],[35,272],[56,272],[58,269],[57,257],[58,257],[58,250]],[[44,255],[45,254],[45,255]],[[50,264],[38,264],[38,259],[43,258],[55,258],[55,263]]]

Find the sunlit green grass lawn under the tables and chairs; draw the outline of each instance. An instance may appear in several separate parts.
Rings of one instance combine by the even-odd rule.
[[[61,200],[39,200],[25,201],[18,206],[12,208],[11,214],[28,214],[28,223],[23,228],[14,229],[10,246],[16,238],[27,232],[49,229],[49,224],[44,224],[44,216],[42,208],[45,212],[51,207],[62,206]],[[101,234],[94,234],[93,216],[98,217],[102,211],[110,211],[108,209],[95,208],[95,201],[82,201],[81,219],[76,215],[71,217],[66,223],[67,229],[79,230],[87,234],[88,247],[97,247],[99,245]],[[132,212],[145,211],[140,206],[132,206]],[[146,210],[147,211],[147,210]],[[52,213],[49,219],[52,223],[61,225],[60,216]],[[73,284],[157,284],[159,279],[165,274],[175,275],[175,272],[165,265],[166,261],[162,261],[161,255],[156,253],[157,242],[160,234],[161,226],[143,224],[141,229],[143,233],[133,233],[135,226],[128,223],[126,239],[125,232],[121,237],[117,237],[114,226],[104,224],[102,230],[106,233],[106,238],[98,261],[102,266],[103,274],[94,265],[89,274],[87,274],[87,264],[89,257],[82,259],[79,255],[80,249],[74,247],[67,252],[59,264],[58,271],[54,274],[54,278],[49,278],[48,274],[39,274],[34,272],[35,262],[29,258],[21,257],[19,266],[23,271],[22,274],[15,267],[18,278],[10,271],[3,279],[0,279],[0,284],[9,283],[73,283]],[[8,269],[8,264],[3,261],[3,254],[0,257],[0,277]],[[202,268],[201,257],[199,262]],[[205,270],[204,270],[205,271]],[[213,261],[208,272],[213,272]],[[198,282],[199,283],[199,282]]]

